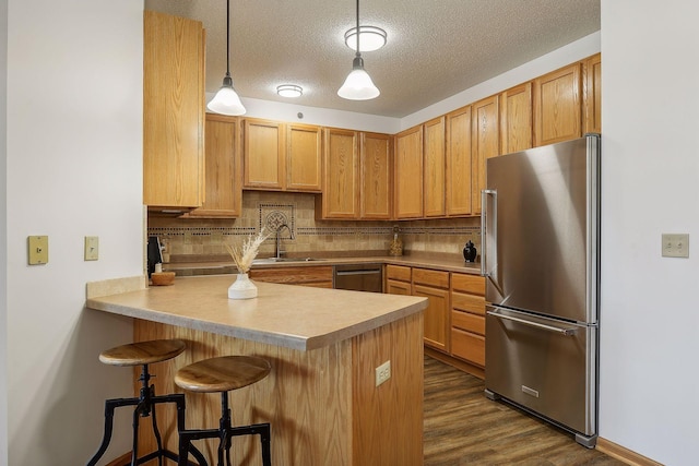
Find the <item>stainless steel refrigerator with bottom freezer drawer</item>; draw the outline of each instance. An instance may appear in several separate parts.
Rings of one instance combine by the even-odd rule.
[[[597,438],[600,135],[490,158],[486,396]]]

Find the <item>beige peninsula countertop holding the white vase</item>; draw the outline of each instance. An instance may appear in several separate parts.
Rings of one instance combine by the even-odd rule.
[[[257,298],[228,299],[232,275],[178,277],[175,285],[88,298],[86,307],[299,350],[310,350],[423,311],[413,296],[256,282]]]

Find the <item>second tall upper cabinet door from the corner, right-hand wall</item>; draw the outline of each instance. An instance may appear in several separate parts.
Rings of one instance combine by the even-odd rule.
[[[424,215],[442,217],[445,207],[445,117],[425,123],[424,128]]]

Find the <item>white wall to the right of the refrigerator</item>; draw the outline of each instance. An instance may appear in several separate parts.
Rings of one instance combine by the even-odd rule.
[[[697,7],[602,1],[601,437],[667,465],[699,438]],[[690,234],[689,259],[661,232]]]

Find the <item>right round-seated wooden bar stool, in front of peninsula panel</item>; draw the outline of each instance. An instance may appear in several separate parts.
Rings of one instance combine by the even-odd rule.
[[[179,431],[179,465],[185,466],[192,440],[220,439],[218,466],[230,466],[230,441],[238,435],[260,435],[262,464],[271,466],[270,423],[233,427],[228,408],[228,392],[251,385],[270,373],[270,362],[256,356],[223,356],[204,359],[177,371],[175,383],[185,390],[199,393],[221,392],[221,420],[218,429],[192,429]],[[193,453],[193,451],[192,451]]]

